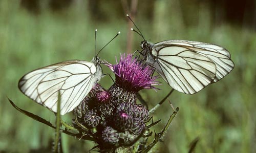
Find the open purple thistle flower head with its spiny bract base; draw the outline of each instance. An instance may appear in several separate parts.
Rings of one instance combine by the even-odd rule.
[[[116,77],[115,83],[109,89],[113,99],[118,103],[136,103],[136,93],[142,89],[154,89],[158,85],[157,76],[153,76],[153,68],[146,65],[132,54],[121,55],[119,63],[106,64]]]

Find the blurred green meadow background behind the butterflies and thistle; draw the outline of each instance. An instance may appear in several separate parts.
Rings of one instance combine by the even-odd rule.
[[[132,50],[126,51],[130,31],[125,14],[132,4],[134,20],[147,40],[215,43],[229,50],[235,63],[228,76],[203,91],[195,95],[174,92],[169,97],[180,112],[164,141],[153,150],[188,152],[190,142],[198,137],[195,152],[256,152],[256,3],[218,0],[0,1],[0,152],[50,152],[54,129],[17,112],[6,96],[19,107],[54,122],[53,113],[18,90],[19,78],[63,60],[90,61],[95,55],[95,29],[98,51],[121,31],[100,53],[102,59],[115,63],[120,53],[139,49],[142,39],[134,33]],[[103,69],[111,73],[105,66]],[[113,82],[104,77],[101,83],[108,89]],[[141,91],[150,107],[171,90],[165,82],[158,87],[162,90]],[[154,119],[162,119],[156,132],[172,112],[168,102],[156,111]],[[63,119],[70,123],[72,116],[70,113]],[[88,152],[94,146],[62,136],[65,152]]]

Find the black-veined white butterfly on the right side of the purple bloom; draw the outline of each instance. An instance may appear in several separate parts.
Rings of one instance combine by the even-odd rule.
[[[144,39],[138,31],[135,32]],[[185,94],[195,94],[219,81],[234,67],[230,53],[210,43],[186,40],[150,43],[144,39],[141,49],[146,63],[151,64],[173,89]]]

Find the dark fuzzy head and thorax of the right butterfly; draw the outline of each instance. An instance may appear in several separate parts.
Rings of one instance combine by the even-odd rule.
[[[146,63],[153,64],[155,62],[155,56],[152,55],[152,48],[154,43],[148,42],[146,40],[141,41],[140,48],[142,49],[142,54],[145,58]]]

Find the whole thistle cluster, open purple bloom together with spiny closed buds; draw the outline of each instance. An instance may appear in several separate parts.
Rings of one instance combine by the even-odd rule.
[[[117,64],[107,63],[116,81],[105,90],[96,83],[89,95],[75,108],[74,125],[98,143],[101,152],[131,146],[146,130],[148,111],[137,104],[136,93],[153,89],[157,77],[153,69],[131,54],[121,55]]]

